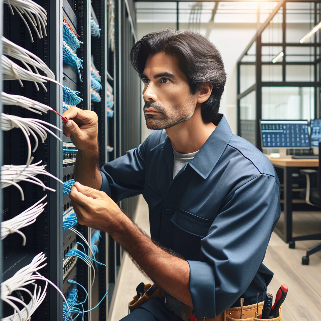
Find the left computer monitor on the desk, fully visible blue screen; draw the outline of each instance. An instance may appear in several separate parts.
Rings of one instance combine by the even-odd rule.
[[[310,148],[308,120],[260,120],[262,148]]]

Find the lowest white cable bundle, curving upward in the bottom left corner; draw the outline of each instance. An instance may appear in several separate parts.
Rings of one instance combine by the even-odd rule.
[[[42,303],[42,301],[46,297],[46,294],[47,294],[46,290],[48,287],[48,282],[45,283],[45,287],[44,287],[42,293],[41,293],[41,286],[38,287],[39,291],[37,293],[37,285],[34,283],[31,283],[31,284],[34,285],[33,294],[26,288],[18,288],[17,289],[19,291],[27,292],[31,297],[30,302],[27,304],[27,308],[23,308],[22,310],[20,310],[20,314],[22,316],[22,319],[19,318],[19,314],[16,312],[16,310],[14,310],[14,313],[11,316],[4,317],[1,319],[1,321],[26,321],[36,311],[36,309],[39,307],[39,305]]]

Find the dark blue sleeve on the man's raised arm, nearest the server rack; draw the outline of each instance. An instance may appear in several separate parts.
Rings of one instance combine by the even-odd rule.
[[[116,203],[141,194],[145,183],[144,143],[126,152],[126,155],[106,163],[100,173],[100,190]]]

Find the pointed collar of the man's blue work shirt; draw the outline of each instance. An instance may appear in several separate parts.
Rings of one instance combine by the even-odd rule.
[[[225,116],[223,114],[219,114],[219,116],[221,117],[221,120],[217,124],[217,127],[201,147],[194,159],[188,163],[188,165],[204,179],[209,176],[232,137],[232,131]],[[173,149],[169,137],[166,135],[165,140],[155,146],[154,149],[163,149],[162,153],[165,156],[169,172],[172,173]]]

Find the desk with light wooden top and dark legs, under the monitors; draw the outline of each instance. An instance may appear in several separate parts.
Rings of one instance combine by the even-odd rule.
[[[292,172],[294,167],[318,167],[318,159],[271,158],[274,167],[283,169],[284,225],[283,231],[275,229],[284,242],[292,241]]]

